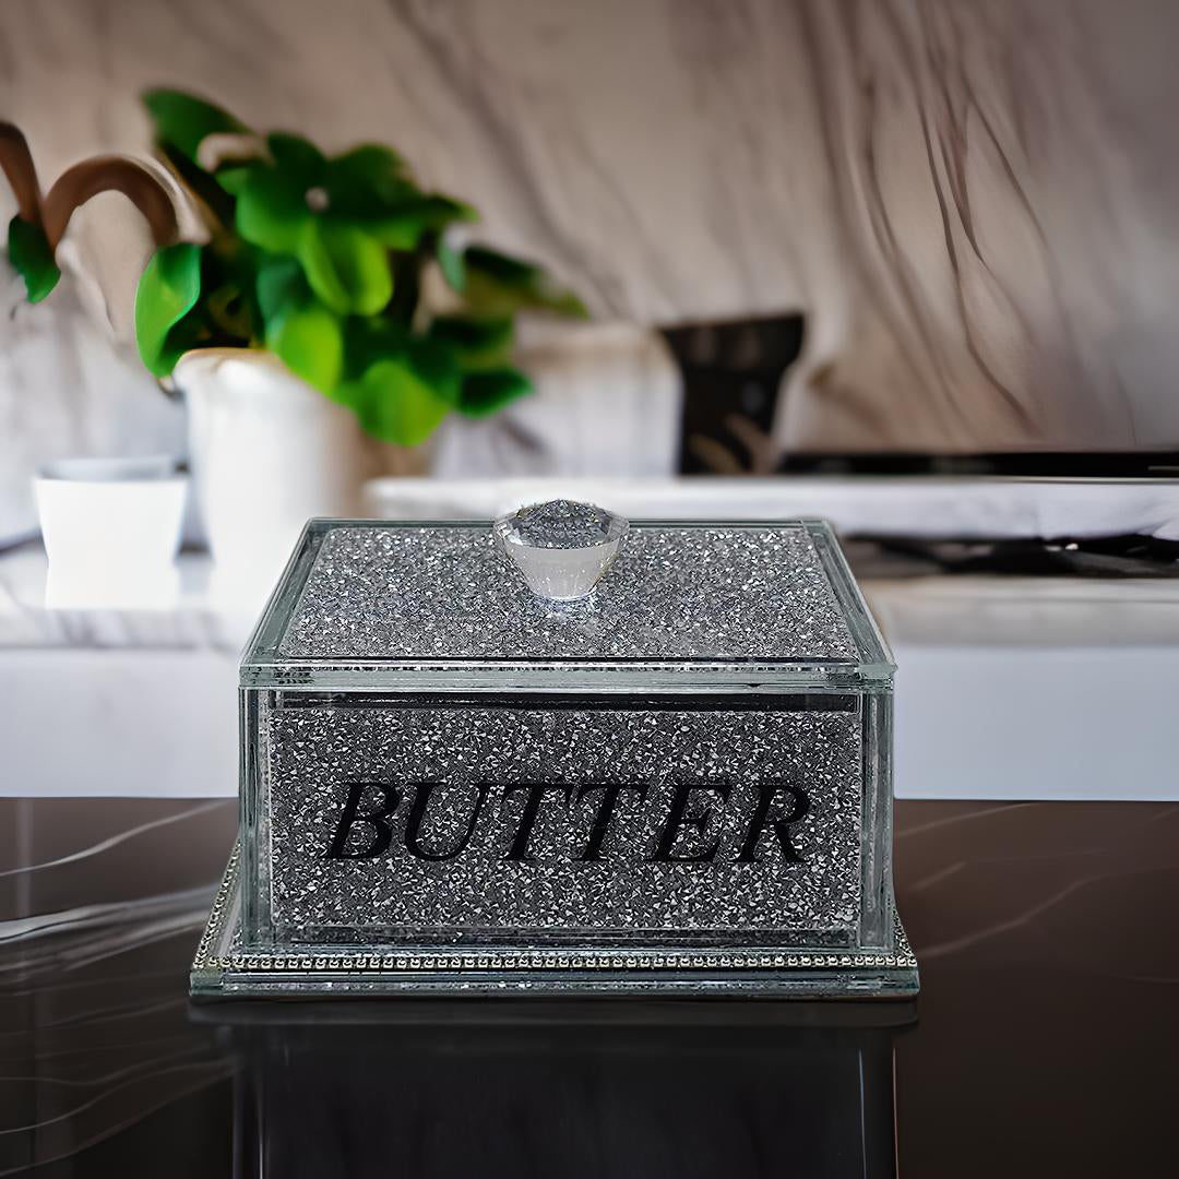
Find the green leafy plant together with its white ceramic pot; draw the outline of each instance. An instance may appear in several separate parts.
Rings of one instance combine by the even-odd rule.
[[[222,565],[261,572],[308,515],[355,511],[361,430],[411,447],[449,413],[528,393],[511,361],[518,311],[585,315],[540,268],[457,245],[475,211],[423,190],[390,147],[325,154],[177,91],[145,104],[206,239],[157,250],[136,335],[185,391]]]

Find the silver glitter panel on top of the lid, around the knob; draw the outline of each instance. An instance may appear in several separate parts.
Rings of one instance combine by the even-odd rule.
[[[334,528],[279,652],[390,660],[857,658],[801,525],[632,526],[594,592],[562,604],[522,584],[489,528]]]

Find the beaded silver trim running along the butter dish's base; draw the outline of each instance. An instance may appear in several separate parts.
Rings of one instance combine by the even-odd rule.
[[[206,989],[196,986],[198,975],[231,971],[243,975],[266,975],[274,979],[276,974],[320,975],[347,973],[361,976],[421,976],[430,973],[460,974],[479,976],[494,971],[498,974],[536,973],[536,971],[617,971],[641,973],[660,970],[700,970],[700,971],[852,971],[852,970],[901,970],[914,971],[914,989],[916,989],[915,971],[917,960],[909,947],[904,928],[895,920],[896,949],[890,954],[856,950],[850,953],[804,953],[798,950],[731,950],[731,949],[691,949],[691,950],[617,950],[617,949],[565,949],[548,948],[538,950],[475,950],[456,951],[453,949],[414,948],[376,953],[364,950],[327,950],[316,947],[311,950],[291,953],[288,950],[250,950],[241,948],[241,928],[232,930],[229,941],[229,953],[218,955],[216,948],[224,942],[225,924],[233,908],[233,898],[238,883],[238,845],[233,845],[225,875],[213,897],[209,923],[197,947],[192,963],[193,989]],[[246,980],[248,981],[248,980]]]

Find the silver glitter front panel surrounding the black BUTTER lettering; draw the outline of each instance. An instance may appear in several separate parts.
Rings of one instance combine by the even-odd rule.
[[[859,714],[847,711],[522,709],[362,703],[283,706],[264,714],[269,903],[279,941],[442,943],[565,941],[690,944],[854,942],[861,905]],[[446,848],[465,829],[476,782],[495,783],[467,850],[415,859],[402,837],[411,790],[387,854],[324,856],[348,784],[436,782],[422,838]],[[648,783],[624,793],[599,862],[579,862],[599,795],[549,796],[531,861],[505,858],[523,795],[511,783]],[[651,863],[672,783],[727,783],[704,841],[713,863]],[[791,828],[802,863],[768,830],[756,863],[737,845],[762,782],[803,786],[811,810]],[[374,792],[373,798],[378,797]],[[371,834],[371,829],[368,829]],[[363,824],[356,832],[363,837]],[[694,835],[689,832],[691,838]],[[685,836],[685,838],[689,838]],[[691,839],[685,847],[690,848]]]

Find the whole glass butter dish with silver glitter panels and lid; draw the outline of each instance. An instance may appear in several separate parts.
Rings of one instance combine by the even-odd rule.
[[[907,996],[894,665],[830,529],[311,521],[196,996]]]

